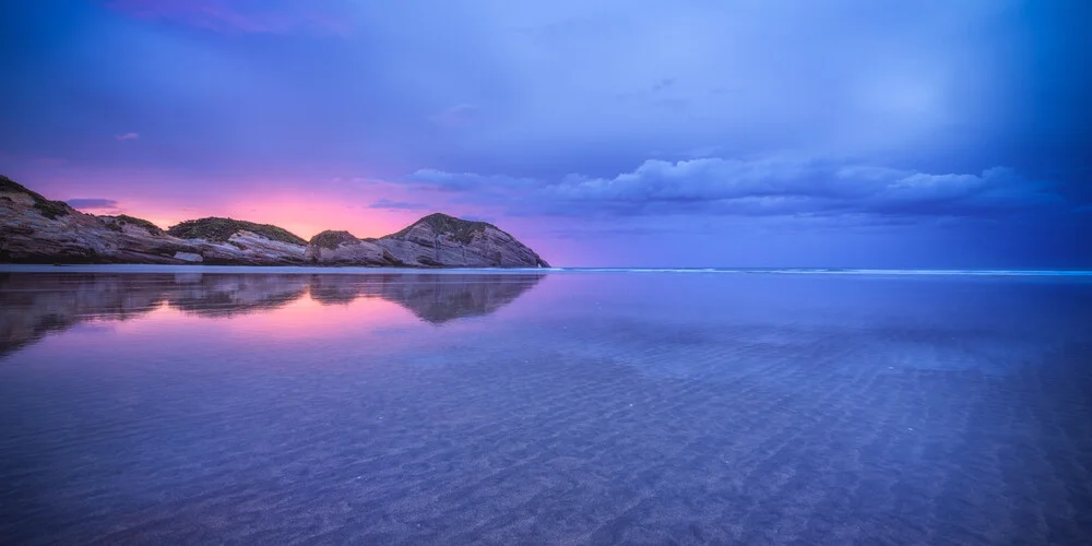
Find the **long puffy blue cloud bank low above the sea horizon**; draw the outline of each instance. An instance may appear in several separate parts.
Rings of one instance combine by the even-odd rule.
[[[998,217],[1066,204],[1052,185],[1005,167],[931,174],[829,159],[650,159],[614,177],[518,185],[436,170],[428,178],[520,215]],[[507,191],[479,193],[485,186]]]

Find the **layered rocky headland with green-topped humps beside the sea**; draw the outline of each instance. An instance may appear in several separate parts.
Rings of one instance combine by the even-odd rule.
[[[187,221],[164,230],[132,216],[82,213],[3,176],[0,262],[549,266],[491,224],[439,213],[379,239],[323,232],[306,241],[276,226],[219,217]]]

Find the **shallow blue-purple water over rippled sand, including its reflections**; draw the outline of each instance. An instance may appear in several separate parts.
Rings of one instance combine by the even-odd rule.
[[[1088,276],[79,271],[12,544],[1092,543]]]

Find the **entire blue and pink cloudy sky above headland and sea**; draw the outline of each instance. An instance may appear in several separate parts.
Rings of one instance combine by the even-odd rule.
[[[1092,266],[1082,0],[9,0],[0,174],[555,265]]]

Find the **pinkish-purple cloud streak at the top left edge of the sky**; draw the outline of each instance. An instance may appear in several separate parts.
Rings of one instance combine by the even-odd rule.
[[[347,36],[344,20],[318,2],[227,0],[114,0],[109,7],[134,19],[168,21],[225,34],[312,33]],[[329,8],[329,4],[323,8]]]

